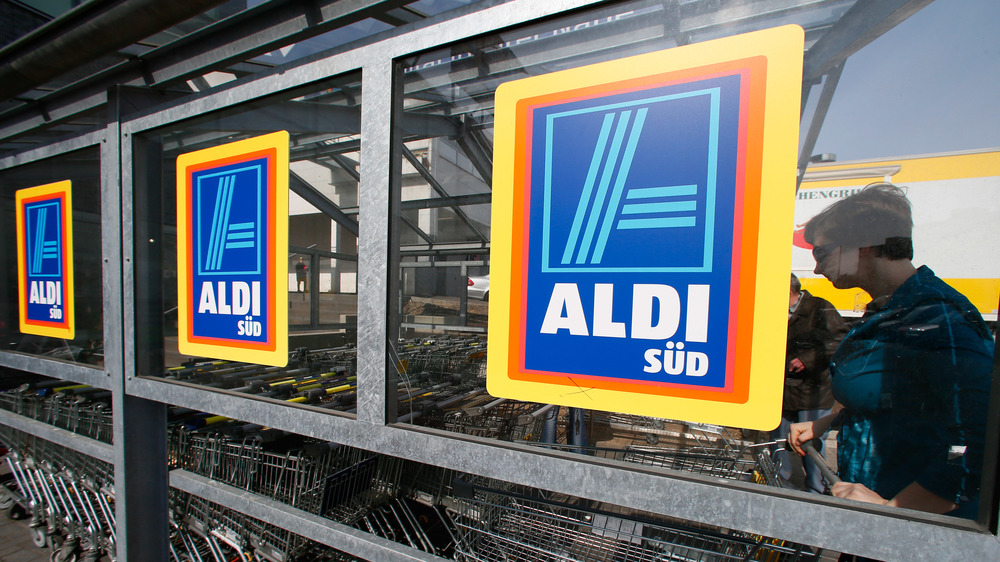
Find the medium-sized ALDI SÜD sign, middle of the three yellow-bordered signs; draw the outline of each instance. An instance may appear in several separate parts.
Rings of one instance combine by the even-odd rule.
[[[288,133],[177,158],[179,349],[288,361]]]

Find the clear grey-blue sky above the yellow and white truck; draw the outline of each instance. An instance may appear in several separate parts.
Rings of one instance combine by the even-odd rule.
[[[855,53],[813,154],[842,162],[1000,148],[998,25],[998,0],[936,0]],[[810,102],[818,98],[815,87]]]

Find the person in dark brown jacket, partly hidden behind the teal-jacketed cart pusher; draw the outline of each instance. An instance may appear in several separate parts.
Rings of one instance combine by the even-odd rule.
[[[792,274],[788,300],[788,344],[785,347],[785,390],[781,405],[781,425],[772,434],[784,439],[793,423],[813,421],[828,415],[833,408],[830,383],[830,357],[847,333],[847,326],[837,309],[825,299],[802,290],[799,278]],[[823,436],[818,446],[823,452]],[[793,466],[788,452],[779,449],[779,476],[783,485],[795,487]],[[823,479],[816,461],[805,458],[805,490],[823,493]]]

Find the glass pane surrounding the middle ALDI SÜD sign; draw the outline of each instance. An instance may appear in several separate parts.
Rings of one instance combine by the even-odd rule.
[[[149,362],[144,372],[292,403],[333,407],[337,399],[339,409],[353,408],[344,397],[353,397],[357,341],[360,85],[354,73],[138,136],[136,240],[149,250],[138,252],[148,261],[137,267],[137,300],[140,309],[149,305],[138,324],[142,314],[163,318],[162,338],[137,335],[140,363]],[[183,355],[177,344],[177,157],[279,130],[288,131],[291,143],[288,364]],[[148,192],[138,187],[147,177]],[[162,252],[154,244],[161,238]],[[327,392],[331,388],[336,391]]]

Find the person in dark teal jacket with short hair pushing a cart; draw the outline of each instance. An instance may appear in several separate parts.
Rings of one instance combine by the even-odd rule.
[[[905,192],[873,184],[813,217],[816,273],[872,297],[830,360],[833,413],[793,424],[802,443],[836,423],[838,498],[976,519],[994,341],[976,307],[913,264]],[[995,444],[993,445],[995,446]]]

